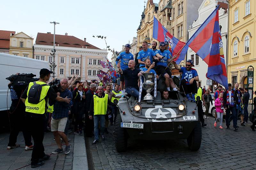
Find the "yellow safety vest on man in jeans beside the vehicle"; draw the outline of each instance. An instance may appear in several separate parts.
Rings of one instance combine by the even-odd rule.
[[[93,95],[94,115],[106,115],[108,108],[108,94],[103,98]]]

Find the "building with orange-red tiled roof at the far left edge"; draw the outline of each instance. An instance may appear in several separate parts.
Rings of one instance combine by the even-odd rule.
[[[10,36],[14,34],[15,34],[15,31],[0,30],[0,53],[9,54]]]

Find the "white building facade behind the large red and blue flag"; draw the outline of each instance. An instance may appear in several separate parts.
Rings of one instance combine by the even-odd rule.
[[[227,58],[227,41],[228,41],[228,4],[219,2],[219,0],[204,0],[202,4],[198,8],[198,18],[196,21],[193,22],[190,29],[188,29],[188,36],[189,38],[196,32],[196,30],[200,27],[201,24],[205,21],[205,19],[212,13],[212,11],[216,8],[217,5],[219,6],[219,24],[220,24],[220,32],[221,32],[221,39],[223,43],[223,52],[224,58]],[[206,73],[208,70],[208,65],[198,56],[191,48],[188,48],[188,59],[194,61],[194,65],[198,76],[199,76],[199,87],[205,86],[206,88],[212,89],[212,92],[215,91],[217,86],[219,85],[217,82],[212,81],[212,85],[208,86],[206,84],[207,77]]]

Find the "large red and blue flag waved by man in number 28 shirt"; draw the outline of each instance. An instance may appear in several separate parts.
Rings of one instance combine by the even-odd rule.
[[[228,88],[218,7],[196,30],[187,45],[208,64],[207,77]]]

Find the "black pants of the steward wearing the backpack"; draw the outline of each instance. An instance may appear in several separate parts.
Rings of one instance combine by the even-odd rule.
[[[38,162],[39,158],[45,156],[44,153],[44,125],[45,125],[45,114],[36,114],[26,112],[26,122],[30,127],[31,135],[34,140],[34,148],[31,155],[31,164]]]

